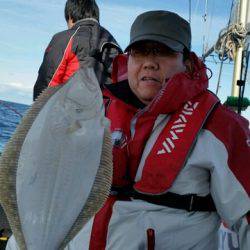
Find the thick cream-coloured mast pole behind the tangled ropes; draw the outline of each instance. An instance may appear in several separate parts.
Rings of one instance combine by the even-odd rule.
[[[246,15],[247,15],[247,0],[241,0],[238,22],[242,23],[243,27],[245,27],[246,25]],[[233,82],[232,82],[232,92],[231,92],[232,96],[239,96],[239,86],[237,86],[237,80],[240,79],[242,51],[243,51],[243,46],[236,49]]]

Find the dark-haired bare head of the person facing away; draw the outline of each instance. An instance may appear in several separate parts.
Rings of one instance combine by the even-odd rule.
[[[99,21],[99,8],[95,0],[67,0],[64,15],[68,27],[84,18],[94,18]]]

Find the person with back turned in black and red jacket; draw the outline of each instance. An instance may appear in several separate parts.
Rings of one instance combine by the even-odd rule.
[[[84,64],[86,56],[95,57],[108,75],[112,54],[121,52],[113,36],[100,26],[95,0],[67,0],[65,19],[69,29],[54,35],[45,51],[34,100],[47,86],[65,83]]]

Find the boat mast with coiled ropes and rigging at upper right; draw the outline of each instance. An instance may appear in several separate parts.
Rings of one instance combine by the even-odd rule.
[[[250,1],[232,1],[230,18],[227,27],[221,30],[217,42],[204,51],[202,58],[213,52],[218,54],[221,61],[216,94],[221,80],[223,63],[226,60],[234,62],[231,96],[226,105],[241,114],[242,109],[247,109],[250,101],[245,97],[244,91],[247,82],[249,54],[250,54]]]

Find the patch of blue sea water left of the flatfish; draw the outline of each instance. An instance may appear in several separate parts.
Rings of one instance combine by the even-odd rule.
[[[28,105],[0,100],[0,152],[21,121]]]

